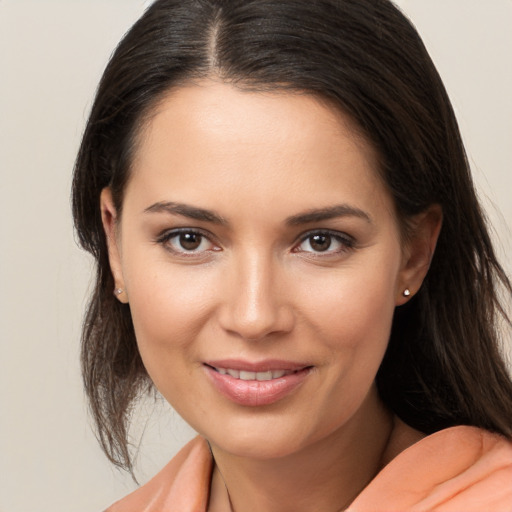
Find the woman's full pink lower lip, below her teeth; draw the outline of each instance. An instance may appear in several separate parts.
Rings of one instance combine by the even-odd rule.
[[[295,391],[308,377],[310,368],[272,380],[241,380],[222,375],[205,366],[214,387],[219,393],[239,405],[256,407],[273,404]]]

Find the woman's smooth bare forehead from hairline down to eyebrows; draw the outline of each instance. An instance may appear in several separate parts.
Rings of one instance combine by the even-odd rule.
[[[389,206],[377,161],[351,119],[313,95],[205,82],[159,102],[130,182],[154,200],[171,194],[202,205],[231,194],[301,210],[348,199]]]

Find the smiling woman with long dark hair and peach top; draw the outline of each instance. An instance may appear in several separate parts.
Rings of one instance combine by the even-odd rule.
[[[512,508],[511,286],[389,1],[155,2],[73,201],[105,452],[153,385],[200,434],[110,511]]]

